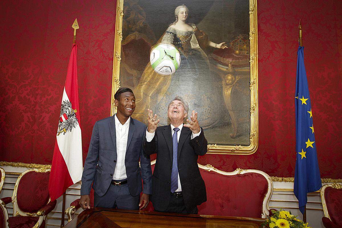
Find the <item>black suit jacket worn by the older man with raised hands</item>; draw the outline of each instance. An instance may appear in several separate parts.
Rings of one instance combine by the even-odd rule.
[[[199,136],[190,140],[191,130],[183,126],[178,142],[178,173],[182,185],[186,209],[207,201],[206,186],[197,165],[198,155],[207,152],[207,139],[203,129]],[[144,138],[144,151],[147,155],[157,153],[157,161],[152,176],[153,206],[158,211],[165,211],[171,197],[171,169],[173,144],[171,126],[160,126],[155,131],[151,142]]]

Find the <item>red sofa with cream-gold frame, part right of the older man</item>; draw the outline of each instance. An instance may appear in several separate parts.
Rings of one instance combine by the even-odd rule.
[[[224,172],[212,165],[200,165],[206,184],[207,202],[198,214],[266,218],[273,192],[271,177],[260,170],[236,169]]]

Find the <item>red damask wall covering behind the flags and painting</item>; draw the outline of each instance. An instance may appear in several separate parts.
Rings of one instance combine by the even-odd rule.
[[[342,2],[258,1],[259,149],[201,164],[294,176],[294,90],[303,25],[321,177],[342,178]],[[109,116],[116,2],[0,3],[1,161],[51,164],[75,17],[83,157],[93,124]]]

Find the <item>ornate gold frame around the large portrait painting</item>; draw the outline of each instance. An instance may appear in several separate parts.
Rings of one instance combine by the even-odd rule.
[[[123,23],[123,2],[117,0],[115,39],[113,53],[113,76],[111,90],[110,116],[116,113],[114,94],[120,88],[120,62]],[[259,140],[258,129],[258,17],[257,0],[249,0],[249,40],[250,40],[250,145],[223,146],[208,145],[208,153],[250,155],[257,151]]]

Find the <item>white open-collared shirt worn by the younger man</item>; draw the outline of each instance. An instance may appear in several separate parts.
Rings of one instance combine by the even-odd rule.
[[[124,124],[120,123],[119,119],[116,117],[116,114],[114,118],[115,118],[117,159],[116,159],[115,171],[113,174],[113,180],[122,180],[122,179],[127,178],[125,157],[126,157],[129,123],[131,121],[131,117],[129,117],[126,123]]]

